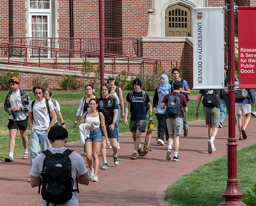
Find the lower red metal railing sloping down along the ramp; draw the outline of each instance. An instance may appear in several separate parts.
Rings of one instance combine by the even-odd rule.
[[[32,51],[32,52],[31,52]],[[38,62],[34,62],[35,58],[29,58],[33,51],[37,54]],[[99,57],[99,52],[87,52],[87,51],[78,51],[78,50],[71,50],[71,49],[62,49],[62,48],[51,48],[51,47],[43,47],[43,46],[36,46],[36,45],[26,45],[26,44],[14,44],[9,42],[0,42],[0,55],[4,56],[4,58],[0,58],[0,63],[5,64],[21,64],[25,66],[38,66],[38,67],[46,67],[46,68],[55,68],[55,69],[68,69],[68,70],[81,70],[82,65],[72,66],[71,61],[75,58],[74,57],[82,57],[91,58],[91,57]],[[51,56],[54,60],[54,64],[50,63],[42,63],[41,60],[48,60],[47,57]],[[66,65],[62,65],[61,62],[63,58],[62,56],[68,57],[69,63]],[[109,74],[120,74],[121,70],[118,71],[116,69],[116,61],[117,60],[127,60],[127,72],[128,75],[136,75],[140,72],[131,72],[130,71],[130,64],[131,61],[137,60],[141,61],[135,64],[142,64],[142,71],[141,73],[144,74],[144,64],[155,64],[158,63],[162,65],[162,62],[168,68],[172,68],[174,65],[177,67],[176,60],[165,60],[165,59],[154,59],[154,58],[143,58],[143,57],[133,57],[133,56],[125,56],[125,55],[113,55],[113,54],[104,54],[105,58],[112,58],[114,68],[112,71],[105,70],[105,73]],[[49,59],[51,60],[51,59]],[[123,69],[122,69],[123,70]],[[94,69],[93,71],[96,71]]]

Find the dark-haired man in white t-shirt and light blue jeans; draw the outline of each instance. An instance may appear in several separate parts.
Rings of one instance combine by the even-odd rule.
[[[40,143],[42,151],[50,148],[48,132],[56,122],[54,110],[56,107],[53,105],[52,101],[44,98],[45,89],[42,86],[36,86],[33,88],[33,93],[36,96],[36,100],[30,102],[28,106],[29,125],[31,130],[30,167],[32,167],[34,159],[39,154]],[[52,116],[51,120],[50,116]]]

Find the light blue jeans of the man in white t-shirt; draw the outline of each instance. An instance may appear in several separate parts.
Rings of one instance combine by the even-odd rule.
[[[42,151],[50,148],[50,142],[48,139],[48,133],[46,130],[36,130],[31,129],[30,135],[30,168],[32,167],[33,161],[37,155],[39,155],[40,151],[40,143],[42,147]]]

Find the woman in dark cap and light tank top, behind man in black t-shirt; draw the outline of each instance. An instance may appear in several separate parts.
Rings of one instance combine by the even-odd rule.
[[[107,83],[111,87],[111,92],[110,92],[109,95],[111,97],[114,97],[117,100],[117,103],[118,103],[118,116],[117,116],[117,120],[116,120],[116,128],[117,128],[117,144],[118,144],[118,149],[119,149],[120,148],[120,145],[119,145],[119,119],[120,119],[120,115],[121,115],[122,118],[125,117],[123,92],[121,90],[120,85],[116,81],[114,75],[110,75],[108,77],[108,82]],[[108,148],[112,148],[112,147],[110,146]]]

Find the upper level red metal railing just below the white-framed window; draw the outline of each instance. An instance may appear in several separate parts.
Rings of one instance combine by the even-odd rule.
[[[0,37],[0,42],[99,52],[98,38],[28,38]],[[104,53],[140,56],[140,42],[135,38],[104,38]],[[36,54],[34,54],[36,55]],[[33,56],[31,56],[33,57]]]

